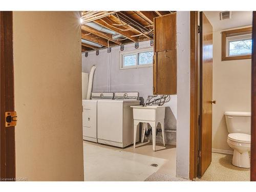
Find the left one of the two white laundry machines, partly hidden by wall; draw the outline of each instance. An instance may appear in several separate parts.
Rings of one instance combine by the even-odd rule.
[[[82,100],[83,140],[97,142],[97,103],[98,100],[112,100],[114,93],[92,93],[92,99]]]

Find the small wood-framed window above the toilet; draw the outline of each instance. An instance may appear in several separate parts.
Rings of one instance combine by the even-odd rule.
[[[251,28],[222,32],[222,60],[249,59],[251,52]]]

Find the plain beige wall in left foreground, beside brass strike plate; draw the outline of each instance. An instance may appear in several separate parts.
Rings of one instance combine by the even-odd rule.
[[[14,12],[16,177],[83,180],[78,12]]]

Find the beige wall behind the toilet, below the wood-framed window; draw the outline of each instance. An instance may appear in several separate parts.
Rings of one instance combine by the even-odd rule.
[[[221,31],[214,32],[212,148],[231,151],[225,111],[250,111],[251,59],[221,61]]]

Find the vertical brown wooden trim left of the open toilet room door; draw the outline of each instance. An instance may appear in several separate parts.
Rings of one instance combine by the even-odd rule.
[[[198,157],[198,12],[190,11],[190,141],[189,179],[197,178]]]

